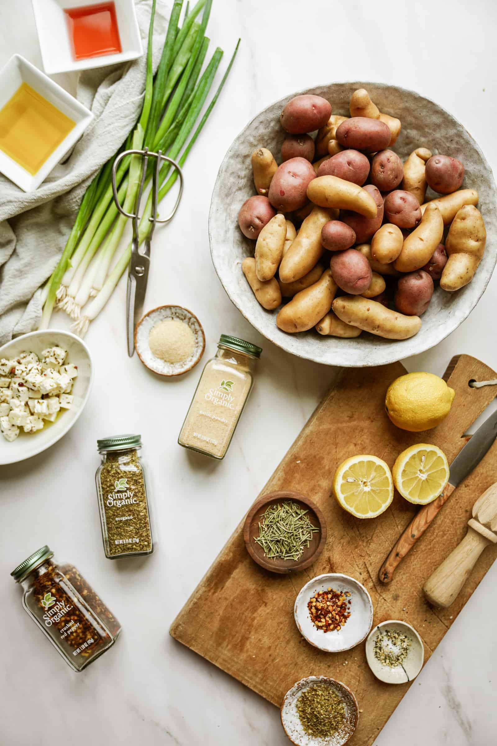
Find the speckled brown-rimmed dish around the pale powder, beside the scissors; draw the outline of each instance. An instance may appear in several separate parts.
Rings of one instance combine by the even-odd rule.
[[[167,319],[186,324],[194,336],[194,348],[191,354],[185,360],[178,363],[168,363],[157,357],[151,351],[149,337],[151,331]],[[203,333],[202,325],[197,316],[191,313],[187,308],[181,306],[159,306],[145,313],[143,319],[136,325],[135,329],[135,349],[143,365],[153,373],[163,376],[181,375],[188,372],[197,365],[206,348],[206,337]]]

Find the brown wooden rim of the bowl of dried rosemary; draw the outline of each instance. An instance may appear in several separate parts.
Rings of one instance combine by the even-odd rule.
[[[300,503],[303,503],[314,512],[314,515],[316,515],[317,522],[319,524],[320,542],[318,543],[314,552],[306,560],[299,560],[298,562],[295,562],[294,560],[288,560],[288,562],[293,563],[291,565],[288,565],[288,567],[275,567],[270,560],[266,560],[265,557],[261,557],[259,556],[259,554],[256,553],[253,548],[252,542],[250,541],[250,524],[253,521],[254,515],[256,515],[256,513],[264,505],[269,504],[270,502],[273,502],[275,500],[294,500],[296,502],[298,501]],[[245,518],[243,534],[247,552],[250,554],[250,557],[252,557],[254,562],[257,562],[257,564],[265,570],[283,575],[305,570],[307,567],[309,567],[309,565],[312,565],[313,562],[317,560],[317,557],[320,556],[326,545],[328,529],[326,527],[326,520],[322,511],[320,510],[320,507],[318,507],[310,498],[307,498],[306,495],[302,494],[302,492],[294,492],[293,490],[282,489],[276,490],[275,492],[267,492],[265,495],[262,495],[261,498],[258,498],[256,500]]]

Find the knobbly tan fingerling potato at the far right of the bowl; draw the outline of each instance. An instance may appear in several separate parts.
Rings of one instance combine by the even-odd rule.
[[[454,292],[472,280],[483,257],[486,240],[487,231],[480,210],[472,204],[461,207],[446,238],[449,259],[440,278],[441,288]]]

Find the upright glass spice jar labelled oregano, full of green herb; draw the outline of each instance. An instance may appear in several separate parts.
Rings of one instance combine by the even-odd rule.
[[[151,509],[142,464],[142,438],[118,435],[97,441],[101,465],[95,474],[105,556],[152,554]]]

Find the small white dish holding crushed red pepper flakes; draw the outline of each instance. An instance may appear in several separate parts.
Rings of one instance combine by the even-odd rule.
[[[349,575],[317,575],[300,591],[295,623],[307,642],[328,653],[355,648],[373,624],[373,603],[364,586]]]

